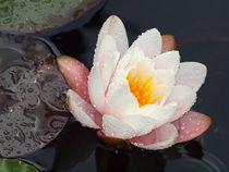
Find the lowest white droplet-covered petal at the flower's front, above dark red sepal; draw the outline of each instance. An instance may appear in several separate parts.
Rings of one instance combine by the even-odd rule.
[[[112,115],[103,116],[103,133],[110,137],[129,139],[135,136],[134,130]]]

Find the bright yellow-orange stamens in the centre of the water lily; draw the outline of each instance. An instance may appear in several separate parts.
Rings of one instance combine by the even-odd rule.
[[[132,76],[132,71],[128,73],[126,79],[130,85],[131,93],[136,97],[140,108],[145,105],[152,105],[160,96],[152,96],[152,93],[156,89],[155,84],[152,84],[154,76],[148,78],[142,78],[141,71],[136,77]]]

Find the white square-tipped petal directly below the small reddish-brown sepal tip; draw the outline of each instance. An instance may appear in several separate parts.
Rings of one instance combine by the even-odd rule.
[[[171,70],[177,73],[180,64],[179,51],[168,51],[161,53],[154,59],[154,62],[156,70]]]

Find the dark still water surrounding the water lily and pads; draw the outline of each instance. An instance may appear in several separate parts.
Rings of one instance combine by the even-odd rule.
[[[176,36],[182,61],[207,65],[206,83],[193,110],[212,118],[210,128],[195,140],[162,151],[134,148],[124,152],[107,148],[95,131],[71,119],[51,144],[21,159],[51,172],[229,171],[229,1],[109,0],[84,26],[51,37],[39,36],[91,67],[97,34],[111,14],[122,19],[130,42],[156,27],[161,34]]]

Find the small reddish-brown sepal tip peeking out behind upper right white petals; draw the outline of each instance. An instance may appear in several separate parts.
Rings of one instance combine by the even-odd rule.
[[[162,49],[161,53],[168,52],[177,49],[177,42],[174,36],[172,35],[162,35]]]

